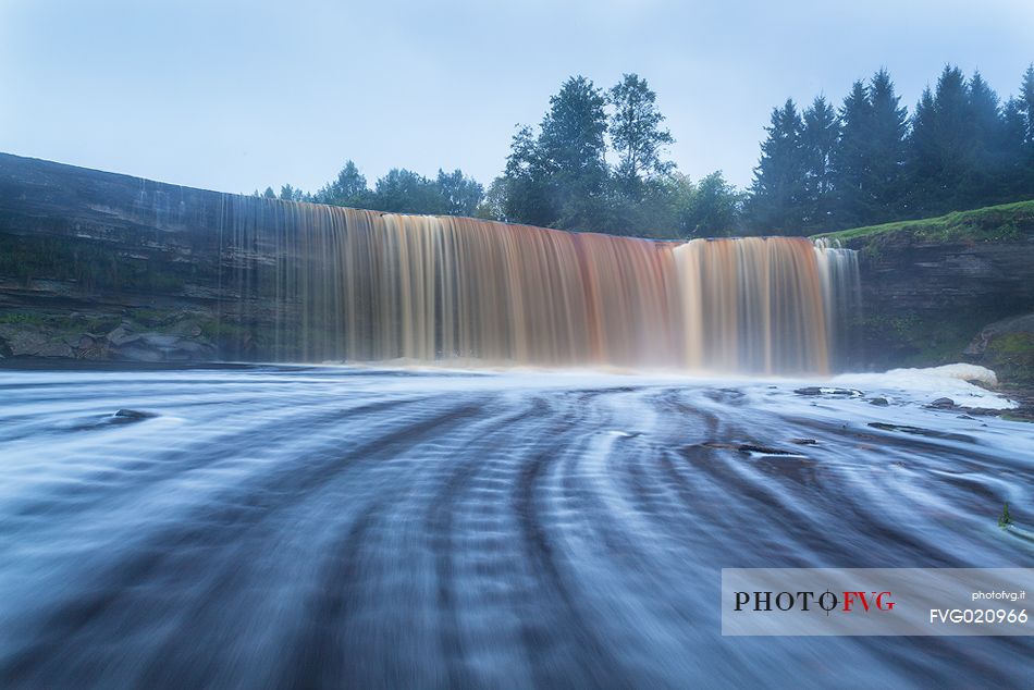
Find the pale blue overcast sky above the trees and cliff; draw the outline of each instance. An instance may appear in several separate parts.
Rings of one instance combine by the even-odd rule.
[[[751,178],[787,97],[946,62],[1002,97],[1031,0],[0,0],[0,151],[225,192],[313,190],[354,159],[488,183],[573,74],[645,77],[694,180]]]

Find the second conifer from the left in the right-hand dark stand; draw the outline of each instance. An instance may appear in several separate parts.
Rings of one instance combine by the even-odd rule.
[[[840,136],[840,122],[822,96],[804,111],[801,127],[803,158],[802,212],[809,230],[829,226],[833,213],[833,152]]]

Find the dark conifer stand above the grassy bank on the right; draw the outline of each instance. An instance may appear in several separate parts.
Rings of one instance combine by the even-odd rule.
[[[839,109],[772,112],[743,208],[761,233],[810,234],[1034,198],[1034,66],[1004,103],[946,66],[911,116],[886,70]]]

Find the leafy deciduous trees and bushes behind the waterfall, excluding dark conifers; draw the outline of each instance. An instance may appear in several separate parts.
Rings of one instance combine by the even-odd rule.
[[[674,138],[663,122],[656,94],[638,75],[605,91],[576,76],[550,99],[538,128],[518,127],[505,172],[487,190],[459,170],[435,180],[393,170],[370,189],[348,161],[315,194],[284,185],[264,196],[613,234],[735,232],[742,194],[721,172],[697,183],[679,173],[664,157]]]

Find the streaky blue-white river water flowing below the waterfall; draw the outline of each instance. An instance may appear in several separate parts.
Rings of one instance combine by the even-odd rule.
[[[948,383],[0,371],[0,686],[1022,687],[1031,638],[721,636],[722,567],[1031,566],[1034,427]]]

